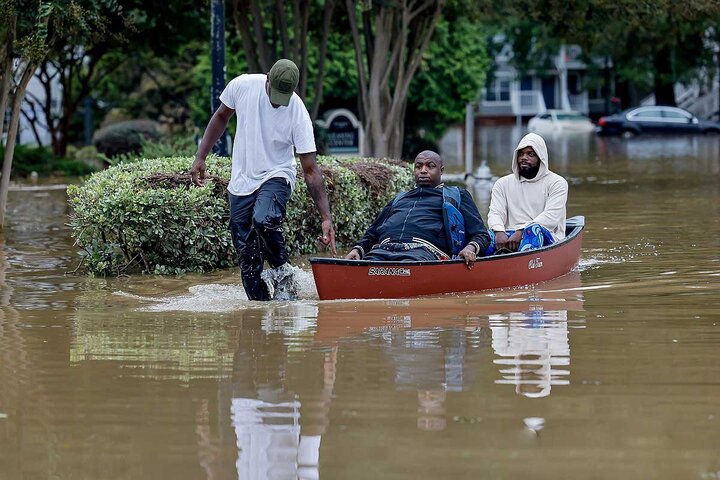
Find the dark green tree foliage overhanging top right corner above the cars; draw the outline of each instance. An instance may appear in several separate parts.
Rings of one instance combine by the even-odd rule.
[[[542,68],[537,64],[547,51],[557,52],[554,45],[577,44],[588,63],[611,59],[612,73],[624,88],[653,88],[656,96],[697,77],[702,67],[715,68],[716,45],[704,37],[720,21],[716,0],[483,2],[487,22],[513,43],[516,65]]]

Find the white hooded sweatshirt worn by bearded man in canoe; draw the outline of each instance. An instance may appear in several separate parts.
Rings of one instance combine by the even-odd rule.
[[[518,151],[532,147],[540,158],[535,178],[520,176]],[[488,227],[496,232],[519,230],[537,223],[552,233],[555,241],[565,238],[565,204],[568,184],[560,175],[550,171],[545,140],[540,135],[525,135],[513,152],[512,172],[493,186],[488,213]]]

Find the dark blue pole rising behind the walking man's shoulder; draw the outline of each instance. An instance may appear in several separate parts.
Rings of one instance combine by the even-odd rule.
[[[210,85],[210,115],[220,106],[220,94],[225,88],[225,5],[223,0],[212,0],[210,6],[210,53],[212,58],[212,83]],[[228,156],[227,135],[220,136],[213,152]]]

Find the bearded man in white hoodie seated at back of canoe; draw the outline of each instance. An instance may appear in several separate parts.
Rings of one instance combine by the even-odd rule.
[[[512,173],[492,190],[488,227],[494,236],[486,254],[518,252],[565,238],[568,184],[550,171],[545,140],[525,135],[512,159]]]

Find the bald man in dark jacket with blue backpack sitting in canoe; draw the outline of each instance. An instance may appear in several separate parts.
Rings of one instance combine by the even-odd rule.
[[[490,234],[470,193],[442,184],[443,168],[440,155],[420,152],[415,158],[416,188],[388,202],[345,258],[427,261],[457,256],[472,268],[489,247]]]

